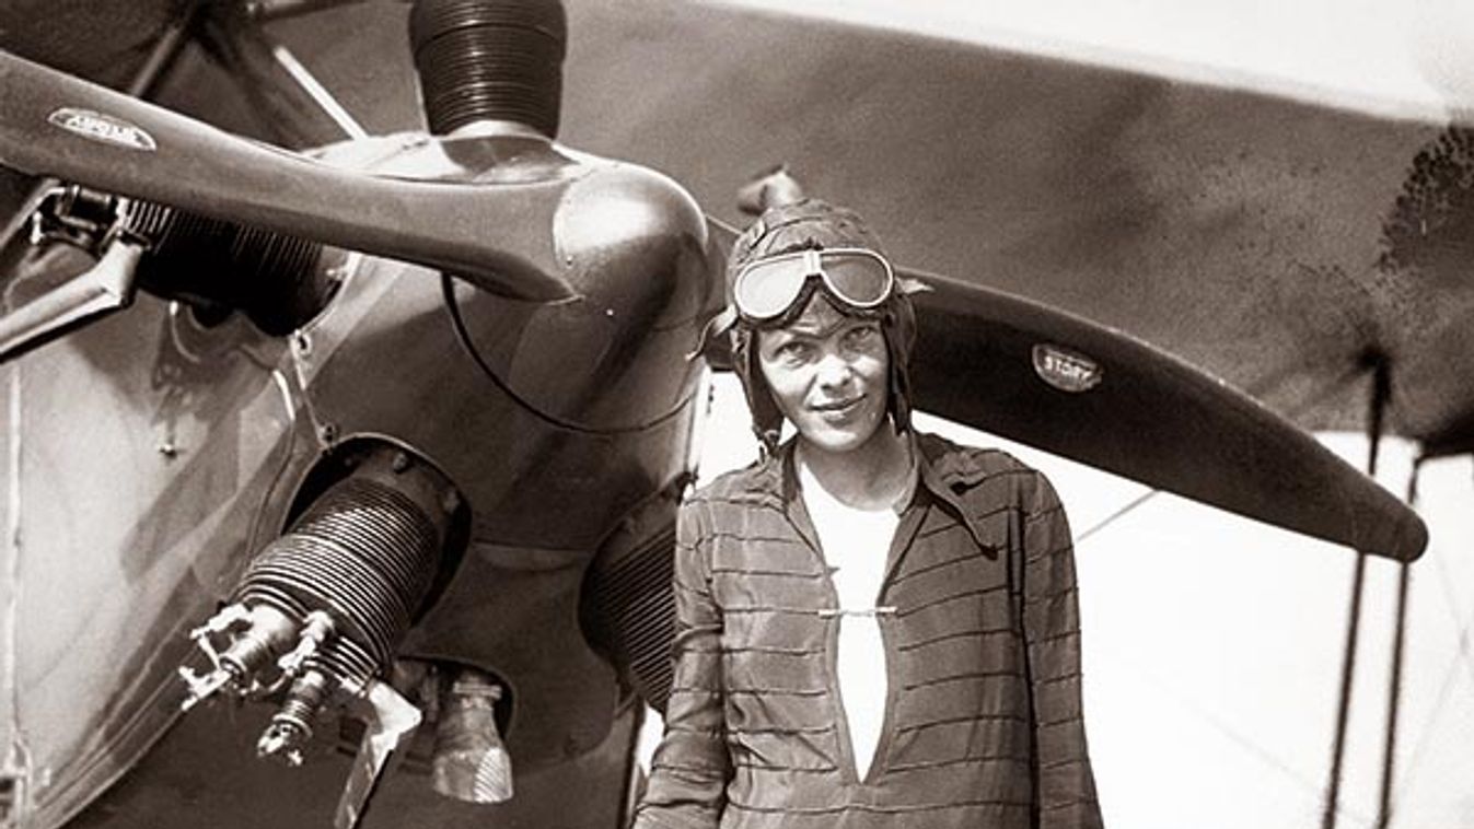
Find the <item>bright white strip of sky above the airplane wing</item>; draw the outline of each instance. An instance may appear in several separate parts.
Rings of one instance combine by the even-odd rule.
[[[1468,0],[725,0],[1387,115],[1474,110]]]

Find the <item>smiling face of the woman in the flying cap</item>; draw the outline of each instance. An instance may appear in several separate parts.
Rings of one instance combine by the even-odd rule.
[[[880,322],[840,314],[820,292],[793,322],[758,333],[758,361],[783,417],[818,449],[858,449],[886,420]]]

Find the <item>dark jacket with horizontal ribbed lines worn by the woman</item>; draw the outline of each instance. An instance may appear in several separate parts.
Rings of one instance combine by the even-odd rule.
[[[867,779],[790,442],[681,508],[675,674],[637,829],[1101,825],[1054,489],[1004,452],[917,446],[877,601],[889,698]]]

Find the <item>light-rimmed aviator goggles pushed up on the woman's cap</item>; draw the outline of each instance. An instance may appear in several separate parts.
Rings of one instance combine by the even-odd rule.
[[[744,265],[733,284],[733,303],[749,322],[780,320],[809,293],[805,287],[812,277],[822,280],[834,299],[861,311],[883,305],[896,289],[890,262],[874,250],[794,250]]]

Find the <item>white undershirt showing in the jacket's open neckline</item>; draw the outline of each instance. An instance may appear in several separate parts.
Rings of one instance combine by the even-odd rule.
[[[845,611],[876,607],[886,577],[886,555],[901,515],[895,509],[856,509],[828,493],[797,464],[803,507],[818,535],[824,562]],[[839,692],[845,701],[855,773],[864,780],[880,742],[886,716],[886,648],[876,615],[845,614],[839,620]]]

